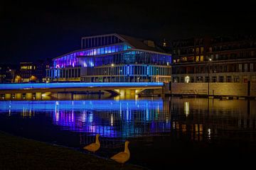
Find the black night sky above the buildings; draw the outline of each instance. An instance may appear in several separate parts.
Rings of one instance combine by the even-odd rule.
[[[53,58],[86,35],[122,33],[160,42],[201,35],[255,34],[254,1],[1,2],[1,63]]]

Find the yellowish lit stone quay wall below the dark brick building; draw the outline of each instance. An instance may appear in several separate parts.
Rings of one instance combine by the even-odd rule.
[[[165,87],[165,93],[207,95],[208,83],[172,83],[171,91]],[[250,96],[256,96],[256,83],[250,84]],[[247,96],[247,83],[210,83],[209,94],[218,96]]]

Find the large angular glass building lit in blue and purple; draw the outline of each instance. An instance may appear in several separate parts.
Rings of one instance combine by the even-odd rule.
[[[47,81],[169,82],[171,54],[127,35],[83,37],[81,50],[55,57],[46,75]]]

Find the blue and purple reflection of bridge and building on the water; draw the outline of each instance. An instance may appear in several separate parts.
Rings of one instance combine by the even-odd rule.
[[[30,117],[46,112],[54,125],[74,132],[99,133],[103,137],[134,137],[171,128],[162,100],[125,101],[3,101],[0,113]],[[167,121],[166,121],[167,120]]]

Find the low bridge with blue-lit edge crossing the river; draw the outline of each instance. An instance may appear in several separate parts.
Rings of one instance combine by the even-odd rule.
[[[2,99],[11,96],[21,99],[23,94],[27,98],[41,99],[44,93],[82,92],[82,91],[107,91],[112,95],[139,94],[145,89],[163,89],[162,82],[112,82],[112,83],[28,83],[28,84],[0,84]],[[13,94],[13,95],[12,95]]]

